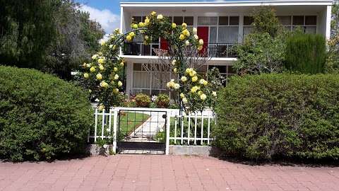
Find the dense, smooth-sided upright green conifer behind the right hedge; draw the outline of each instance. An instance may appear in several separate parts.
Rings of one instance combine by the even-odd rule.
[[[287,39],[286,68],[303,74],[323,73],[326,63],[326,40],[319,34],[295,34]]]

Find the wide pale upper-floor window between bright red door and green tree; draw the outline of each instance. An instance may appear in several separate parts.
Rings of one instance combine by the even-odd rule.
[[[239,27],[224,26],[219,27],[218,43],[234,43],[238,41]]]

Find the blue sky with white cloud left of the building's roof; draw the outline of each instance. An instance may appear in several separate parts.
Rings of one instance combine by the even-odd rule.
[[[75,0],[81,4],[81,10],[90,13],[90,19],[99,22],[106,33],[112,33],[115,28],[120,25],[120,2],[143,2],[141,0]],[[147,0],[148,2],[169,2],[169,1],[184,1],[192,0]],[[205,0],[208,1],[208,0]],[[223,0],[210,0],[223,1]],[[226,1],[226,0],[225,0]],[[243,1],[243,0],[232,0]]]

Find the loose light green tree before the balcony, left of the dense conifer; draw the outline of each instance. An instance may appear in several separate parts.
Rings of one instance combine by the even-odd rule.
[[[287,33],[280,25],[272,8],[260,8],[252,14],[253,33],[244,43],[234,47],[238,59],[234,69],[240,74],[261,74],[283,71],[285,38]]]

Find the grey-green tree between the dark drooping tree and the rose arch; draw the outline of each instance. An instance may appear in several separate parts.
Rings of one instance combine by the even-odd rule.
[[[103,30],[98,23],[89,20],[88,13],[78,10],[71,0],[60,1],[55,11],[57,38],[49,48],[44,70],[57,74],[61,79],[71,79],[71,71],[79,62],[86,62],[99,50],[98,41]]]

